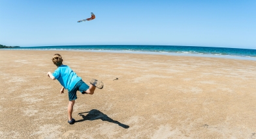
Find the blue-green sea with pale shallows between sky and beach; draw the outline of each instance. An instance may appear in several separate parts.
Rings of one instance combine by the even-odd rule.
[[[182,55],[256,60],[256,49],[239,49],[227,47],[197,47],[177,45],[59,45],[15,47],[5,49],[138,53],[149,55]]]

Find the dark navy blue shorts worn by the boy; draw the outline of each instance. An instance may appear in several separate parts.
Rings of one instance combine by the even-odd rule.
[[[71,91],[69,91],[69,101],[76,100],[76,92],[80,91],[82,94],[86,92],[86,90],[89,89],[89,86],[82,80],[78,81],[74,88],[72,88]]]

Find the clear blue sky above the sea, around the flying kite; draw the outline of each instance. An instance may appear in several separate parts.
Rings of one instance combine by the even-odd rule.
[[[0,0],[0,44],[256,49],[256,1]]]

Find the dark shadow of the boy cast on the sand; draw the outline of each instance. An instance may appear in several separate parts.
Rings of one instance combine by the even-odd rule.
[[[85,116],[84,113],[88,113],[88,114]],[[99,110],[93,109],[93,110],[90,110],[89,112],[81,112],[81,113],[79,113],[79,115],[82,116],[83,120],[78,120],[76,122],[81,122],[81,121],[86,121],[86,120],[90,120],[90,121],[103,120],[103,121],[108,121],[111,123],[116,123],[120,127],[123,127],[125,129],[129,128],[129,125],[125,125],[123,123],[120,123],[119,121],[112,120],[106,114],[103,114],[103,112],[101,112]]]

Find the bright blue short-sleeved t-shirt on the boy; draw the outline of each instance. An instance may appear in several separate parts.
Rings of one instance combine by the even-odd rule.
[[[81,77],[78,77],[67,65],[59,66],[52,75],[65,89],[69,91],[71,91],[76,83],[82,79]]]

